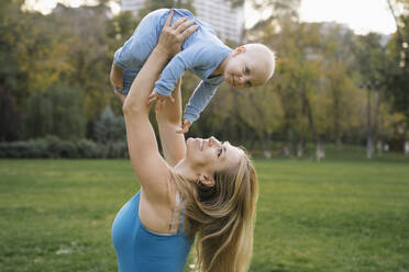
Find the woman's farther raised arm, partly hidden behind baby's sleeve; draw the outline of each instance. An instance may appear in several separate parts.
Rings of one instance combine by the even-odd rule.
[[[165,159],[169,166],[176,166],[186,154],[186,143],[184,134],[176,133],[180,129],[181,123],[181,78],[177,81],[175,90],[172,92],[174,103],[165,103],[156,112],[157,125],[159,128],[161,144]]]

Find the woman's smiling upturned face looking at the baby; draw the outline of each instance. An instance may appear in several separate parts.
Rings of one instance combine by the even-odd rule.
[[[230,145],[229,141],[220,143],[214,137],[188,138],[186,146],[186,160],[194,168],[200,168],[209,174],[237,165],[244,156],[240,148]]]

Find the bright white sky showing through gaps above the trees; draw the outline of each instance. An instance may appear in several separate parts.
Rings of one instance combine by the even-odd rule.
[[[29,7],[43,13],[49,13],[57,4],[79,7],[93,0],[26,0]],[[113,11],[119,11],[113,4]],[[338,22],[346,24],[356,34],[378,32],[390,34],[396,31],[393,15],[386,0],[301,0],[300,20],[305,22]],[[253,25],[261,16],[250,4],[245,4],[246,27]]]

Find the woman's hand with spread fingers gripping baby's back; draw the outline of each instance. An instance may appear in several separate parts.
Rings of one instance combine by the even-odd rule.
[[[185,39],[199,27],[199,25],[191,26],[195,24],[195,21],[187,20],[187,18],[180,18],[170,25],[173,18],[174,11],[170,10],[156,46],[157,49],[164,52],[169,57],[179,53]]]

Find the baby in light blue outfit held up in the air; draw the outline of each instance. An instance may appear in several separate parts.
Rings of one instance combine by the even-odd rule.
[[[186,18],[195,21],[198,30],[166,65],[155,83],[153,95],[159,100],[169,98],[185,70],[202,79],[185,107],[180,133],[187,133],[224,81],[236,90],[264,84],[273,76],[275,56],[262,44],[246,44],[231,49],[215,36],[209,24],[196,19],[190,11],[161,9],[147,14],[131,38],[115,52],[111,82],[117,92],[126,94],[130,91],[134,78],[155,48],[170,11],[174,12],[173,22]]]

